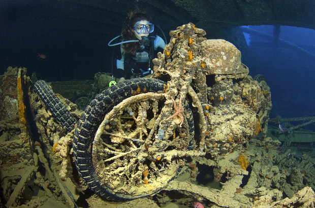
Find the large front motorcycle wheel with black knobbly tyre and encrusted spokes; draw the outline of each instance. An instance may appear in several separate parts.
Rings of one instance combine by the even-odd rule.
[[[192,149],[194,121],[184,102],[182,127],[165,124],[166,83],[130,79],[99,94],[76,125],[73,153],[88,187],[107,200],[151,195],[174,179]],[[164,123],[161,125],[161,123]]]

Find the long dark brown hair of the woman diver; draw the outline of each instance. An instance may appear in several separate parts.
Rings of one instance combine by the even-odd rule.
[[[128,16],[124,22],[124,26],[121,31],[121,35],[124,40],[138,39],[134,31],[136,22],[140,20],[147,20],[150,22],[151,18],[148,13],[142,12],[139,9],[128,13]],[[123,44],[123,50],[125,53],[136,54],[139,46],[140,45],[138,42],[126,43]]]

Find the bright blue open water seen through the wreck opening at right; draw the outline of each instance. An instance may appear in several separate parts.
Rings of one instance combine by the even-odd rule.
[[[272,25],[249,28],[273,35]],[[246,34],[250,60],[245,59],[249,75],[263,74],[271,90],[272,111],[270,117],[315,116],[315,31],[313,29],[280,26],[279,38],[301,47],[313,56],[289,49],[279,44],[273,50],[271,40]],[[263,42],[266,47],[251,44]],[[315,129],[310,124],[306,129]]]

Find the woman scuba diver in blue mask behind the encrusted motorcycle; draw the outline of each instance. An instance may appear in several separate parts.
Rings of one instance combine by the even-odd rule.
[[[112,69],[112,79],[114,75],[119,77],[118,82],[121,82],[153,73],[152,60],[158,52],[163,52],[165,47],[165,41],[159,35],[152,35],[153,31],[154,24],[150,23],[147,13],[136,10],[128,14],[121,35],[108,43],[108,46],[120,45],[120,51],[116,50],[116,70]],[[120,43],[111,44],[120,36]],[[115,84],[115,81],[113,82]]]

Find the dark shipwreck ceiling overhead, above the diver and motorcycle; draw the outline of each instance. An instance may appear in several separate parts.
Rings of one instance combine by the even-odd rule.
[[[2,1],[2,26],[28,28],[40,35],[118,34],[128,11],[135,7],[149,12],[155,23],[169,31],[187,22],[208,33],[239,25],[291,25],[315,28],[315,2],[310,0],[63,0]],[[8,18],[8,19],[6,19]],[[34,23],[34,24],[32,24]]]

